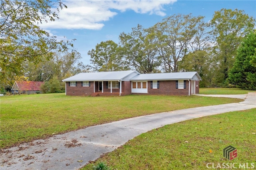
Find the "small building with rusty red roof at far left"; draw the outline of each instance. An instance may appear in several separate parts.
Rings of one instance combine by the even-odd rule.
[[[11,92],[13,94],[34,94],[41,93],[40,86],[44,82],[34,82],[34,81],[16,81],[14,82]]]

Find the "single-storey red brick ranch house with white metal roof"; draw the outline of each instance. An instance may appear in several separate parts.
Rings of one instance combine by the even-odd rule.
[[[186,95],[199,93],[197,72],[140,74],[135,70],[86,72],[62,80],[66,95],[123,96],[129,94]]]

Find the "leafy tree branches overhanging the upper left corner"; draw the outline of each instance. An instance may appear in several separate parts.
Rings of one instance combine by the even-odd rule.
[[[1,86],[8,78],[23,74],[23,62],[38,63],[42,55],[51,57],[53,49],[66,51],[71,41],[57,41],[40,29],[40,23],[54,21],[58,15],[52,8],[67,8],[61,0],[1,0],[0,6],[0,78]]]

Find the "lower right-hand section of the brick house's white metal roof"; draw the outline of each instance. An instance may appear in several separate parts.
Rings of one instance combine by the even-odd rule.
[[[168,72],[168,73],[151,73],[139,74],[132,77],[131,81],[136,80],[201,80],[197,72]]]

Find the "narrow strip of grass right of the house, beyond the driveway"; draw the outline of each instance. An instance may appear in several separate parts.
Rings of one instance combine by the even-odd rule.
[[[200,88],[200,94],[247,94],[248,92],[256,92],[252,90],[242,90],[238,88]]]

